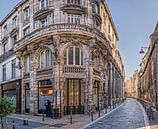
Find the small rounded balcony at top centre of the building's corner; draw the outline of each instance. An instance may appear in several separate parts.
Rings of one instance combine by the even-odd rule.
[[[64,6],[61,7],[61,10],[63,12],[67,12],[70,14],[85,14],[86,13],[86,8],[80,4],[72,4],[72,3],[67,3],[64,4]]]

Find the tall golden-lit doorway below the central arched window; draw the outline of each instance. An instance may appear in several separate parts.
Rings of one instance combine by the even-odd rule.
[[[83,114],[84,106],[82,104],[81,96],[81,79],[67,79],[65,86],[64,97],[66,101],[64,102],[64,114],[68,115],[70,112],[72,114]]]

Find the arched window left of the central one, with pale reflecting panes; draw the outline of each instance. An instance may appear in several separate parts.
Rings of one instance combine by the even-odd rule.
[[[49,49],[42,51],[39,55],[39,68],[48,68],[52,66],[52,52]]]

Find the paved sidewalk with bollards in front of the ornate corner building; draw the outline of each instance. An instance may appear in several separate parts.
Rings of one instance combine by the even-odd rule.
[[[119,105],[117,104],[117,107]],[[107,109],[107,113],[110,112],[110,107]],[[105,115],[105,110],[100,111],[100,117]],[[61,119],[52,119],[45,117],[45,121],[42,119],[41,116],[31,116],[31,115],[24,115],[24,114],[13,114],[10,116],[10,118],[14,119],[28,119],[28,121],[31,122],[38,122],[42,124],[47,124],[47,126],[39,127],[36,129],[78,129],[80,127],[83,127],[84,125],[91,122],[91,115],[72,115],[72,124],[70,124],[70,115],[63,116]],[[99,113],[96,112],[93,114],[93,120],[96,120],[99,118]]]

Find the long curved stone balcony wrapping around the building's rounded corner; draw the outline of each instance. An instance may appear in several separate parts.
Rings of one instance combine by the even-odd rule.
[[[15,50],[20,50],[31,42],[40,39],[45,36],[51,36],[57,33],[75,33],[80,35],[86,35],[89,37],[97,37],[99,40],[103,41],[104,45],[111,50],[111,46],[108,43],[108,40],[105,38],[104,34],[101,33],[98,29],[87,26],[87,25],[77,25],[77,24],[51,24],[47,27],[38,28],[32,31],[30,34],[20,39],[15,45]]]

